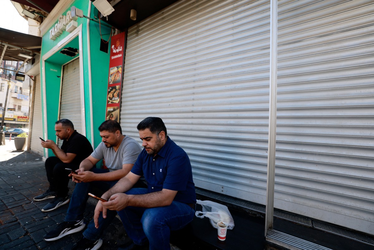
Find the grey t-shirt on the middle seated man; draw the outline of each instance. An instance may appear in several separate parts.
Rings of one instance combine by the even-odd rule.
[[[134,164],[141,152],[141,147],[133,138],[127,135],[123,138],[117,152],[113,147],[106,147],[103,142],[96,147],[91,156],[95,159],[105,160],[109,171],[122,169],[123,164]]]

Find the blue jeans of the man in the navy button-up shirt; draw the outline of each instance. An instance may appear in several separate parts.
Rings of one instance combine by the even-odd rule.
[[[138,195],[148,193],[148,190],[132,188],[125,193]],[[165,207],[126,207],[117,213],[134,243],[143,245],[149,241],[150,250],[170,250],[170,231],[186,226],[195,214],[189,205],[178,201]]]

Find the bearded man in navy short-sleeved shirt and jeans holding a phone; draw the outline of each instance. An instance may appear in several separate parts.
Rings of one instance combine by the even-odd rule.
[[[130,173],[101,196],[109,201],[96,205],[95,226],[103,223],[107,209],[117,210],[133,241],[123,249],[142,249],[149,244],[151,250],[169,250],[170,231],[183,228],[194,217],[196,193],[190,159],[167,136],[162,119],[145,118],[137,129],[144,149]],[[142,175],[148,188],[132,188]]]

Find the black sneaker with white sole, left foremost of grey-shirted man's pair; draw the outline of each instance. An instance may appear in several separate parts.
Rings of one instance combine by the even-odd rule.
[[[61,222],[57,225],[57,228],[50,231],[43,236],[45,241],[54,241],[61,239],[65,235],[74,234],[76,232],[82,231],[85,228],[86,224],[82,220],[77,220],[76,222]]]

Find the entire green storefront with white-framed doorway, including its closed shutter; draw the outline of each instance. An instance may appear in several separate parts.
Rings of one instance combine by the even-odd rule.
[[[58,141],[55,122],[66,118],[95,147],[101,141],[97,128],[105,119],[109,68],[109,55],[100,50],[100,40],[101,35],[108,40],[111,29],[104,25],[99,27],[88,18],[74,17],[74,7],[82,10],[85,16],[98,15],[89,0],[59,1],[40,26],[43,36],[40,57],[42,137]],[[61,143],[58,141],[59,145]],[[52,151],[47,150],[44,156],[51,154]]]

